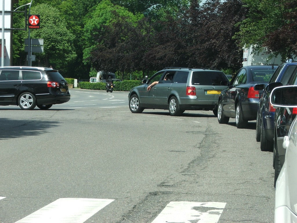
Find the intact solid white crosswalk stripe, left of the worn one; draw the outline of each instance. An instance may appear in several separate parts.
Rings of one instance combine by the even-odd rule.
[[[83,223],[111,199],[60,198],[15,223]]]

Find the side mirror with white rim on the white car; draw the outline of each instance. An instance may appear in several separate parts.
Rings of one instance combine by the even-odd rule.
[[[270,95],[270,103],[275,107],[297,107],[297,86],[276,87]]]

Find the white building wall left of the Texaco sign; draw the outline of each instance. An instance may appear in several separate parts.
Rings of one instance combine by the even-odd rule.
[[[3,8],[3,1],[4,1],[4,10],[5,11],[12,11],[12,0],[2,0],[0,3],[0,27],[2,28],[2,8]],[[7,28],[12,28],[12,16],[11,12],[5,12],[4,13],[4,66],[10,66],[10,59],[11,59],[11,46],[12,46],[12,30],[7,29]],[[0,44],[2,42],[2,30],[0,29]],[[1,48],[0,48],[1,52]],[[2,56],[2,55],[1,55]],[[1,64],[2,59],[0,58],[0,64]],[[2,65],[1,65],[2,66]]]

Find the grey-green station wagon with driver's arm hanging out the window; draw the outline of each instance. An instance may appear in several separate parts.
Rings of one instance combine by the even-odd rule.
[[[217,101],[229,80],[219,70],[166,67],[142,83],[128,95],[133,113],[168,109],[170,115],[178,116],[185,110],[212,110],[217,116]]]

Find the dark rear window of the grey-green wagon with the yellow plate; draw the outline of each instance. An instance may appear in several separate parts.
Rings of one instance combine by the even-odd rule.
[[[221,85],[221,81],[229,81],[226,75],[220,71],[194,71],[193,85]]]

